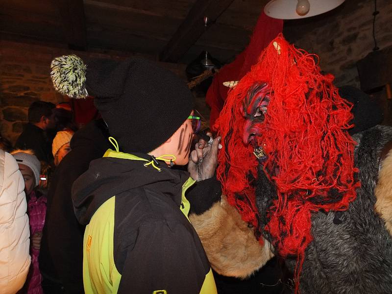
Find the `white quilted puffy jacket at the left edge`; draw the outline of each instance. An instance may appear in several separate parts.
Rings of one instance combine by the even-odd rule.
[[[24,189],[16,160],[0,149],[0,294],[18,292],[30,267]]]

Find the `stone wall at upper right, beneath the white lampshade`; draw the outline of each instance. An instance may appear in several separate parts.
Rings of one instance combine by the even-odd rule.
[[[296,46],[316,53],[321,69],[333,73],[335,84],[360,87],[356,62],[374,47],[374,0],[346,0],[313,18],[288,21],[284,34]],[[375,36],[380,49],[392,45],[392,1],[377,0]]]

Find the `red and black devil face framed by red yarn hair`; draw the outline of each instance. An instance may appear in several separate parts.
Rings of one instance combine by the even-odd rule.
[[[260,126],[264,123],[271,89],[267,83],[256,83],[248,91],[243,105],[244,123],[243,141],[257,147],[254,137],[261,134]]]

